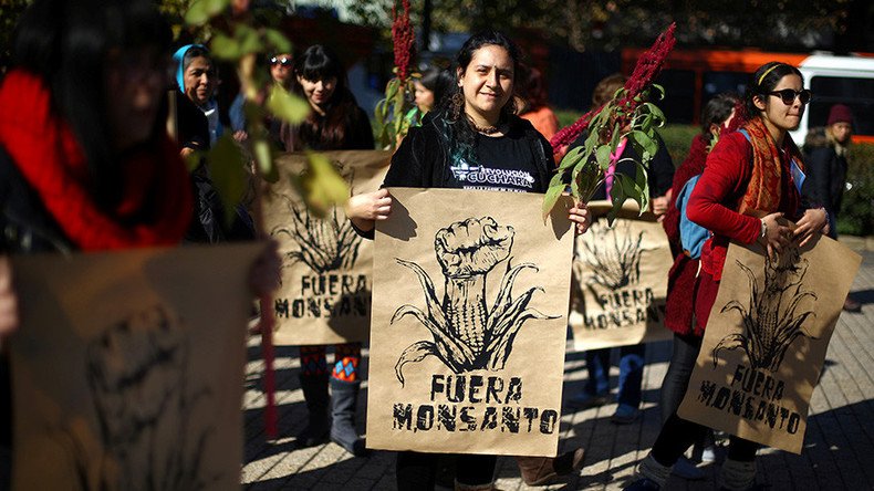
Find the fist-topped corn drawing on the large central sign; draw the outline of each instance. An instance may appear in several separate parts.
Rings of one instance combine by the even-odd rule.
[[[444,275],[443,301],[425,270],[418,264],[395,258],[398,264],[412,270],[419,280],[426,310],[406,304],[395,311],[391,323],[404,316],[418,320],[434,337],[408,346],[395,365],[395,375],[404,385],[403,368],[436,356],[456,374],[476,369],[501,370],[512,351],[516,335],[530,318],[558,318],[528,304],[540,286],[528,289],[513,297],[512,286],[520,272],[538,271],[532,263],[511,267],[508,258],[514,230],[500,226],[491,217],[468,218],[437,231],[435,252]],[[507,261],[497,297],[489,309],[486,280],[490,271]]]

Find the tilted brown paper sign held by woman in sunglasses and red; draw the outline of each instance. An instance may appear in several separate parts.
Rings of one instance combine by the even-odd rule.
[[[758,244],[732,243],[679,416],[801,453],[810,397],[861,262],[828,237],[774,262]]]

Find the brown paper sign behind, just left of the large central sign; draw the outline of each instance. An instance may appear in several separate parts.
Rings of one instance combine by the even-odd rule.
[[[323,153],[353,194],[375,191],[392,154]],[[334,344],[367,339],[371,324],[373,242],[355,233],[342,209],[318,218],[306,209],[292,176],[306,168],[303,154],[277,159],[280,179],[263,201],[264,228],[280,243],[282,286],[275,295],[274,342]]]

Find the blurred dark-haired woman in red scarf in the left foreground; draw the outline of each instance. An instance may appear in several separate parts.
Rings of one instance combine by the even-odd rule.
[[[0,337],[18,324],[2,254],[181,242],[193,198],[164,125],[171,39],[147,0],[37,0],[22,14],[0,86]],[[252,289],[275,289],[279,267],[268,249]],[[6,366],[0,355],[3,405]],[[10,477],[8,409],[0,489]]]

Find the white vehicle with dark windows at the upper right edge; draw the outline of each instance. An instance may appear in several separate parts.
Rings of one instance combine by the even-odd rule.
[[[804,85],[813,92],[801,125],[790,132],[803,145],[810,128],[825,126],[829,109],[845,104],[853,109],[853,142],[874,143],[874,56],[813,54],[798,66]]]

